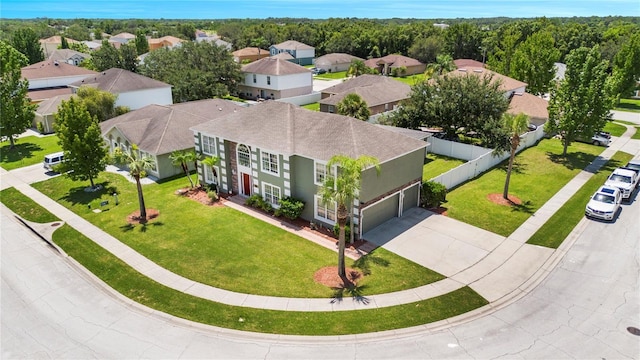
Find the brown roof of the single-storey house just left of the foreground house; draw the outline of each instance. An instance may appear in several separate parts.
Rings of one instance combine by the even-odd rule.
[[[173,105],[147,105],[100,123],[102,134],[117,128],[130,143],[150,154],[162,155],[192,148],[189,127],[234,113],[242,106],[223,99]]]

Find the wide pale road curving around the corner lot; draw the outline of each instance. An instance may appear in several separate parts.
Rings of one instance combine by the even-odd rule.
[[[15,358],[638,358],[640,205],[578,240],[530,295],[439,332],[277,337],[202,326],[112,294],[2,207],[1,348]]]

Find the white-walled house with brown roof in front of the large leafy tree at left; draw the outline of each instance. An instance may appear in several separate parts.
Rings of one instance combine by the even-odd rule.
[[[74,92],[81,86],[108,91],[118,95],[116,106],[126,106],[131,110],[140,109],[149,104],[173,104],[171,85],[118,68],[85,77],[69,86],[74,89]]]

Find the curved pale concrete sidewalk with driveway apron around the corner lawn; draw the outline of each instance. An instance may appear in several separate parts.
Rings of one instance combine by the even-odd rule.
[[[573,239],[573,241],[572,239],[568,239],[559,249],[555,250],[529,245],[526,244],[526,241],[580,189],[597,169],[626,144],[631,133],[632,130],[628,127],[627,132],[625,132],[621,138],[616,139],[587,169],[580,172],[556,193],[513,234],[488,246],[486,253],[483,254],[480,259],[475,259],[469,266],[456,270],[454,274],[450,274],[450,277],[436,283],[394,293],[371,295],[366,297],[366,301],[338,301],[333,298],[307,299],[249,295],[197,283],[160,267],[130,247],[124,245],[118,239],[35,190],[18,177],[12,176],[11,172],[0,170],[0,173],[2,174],[2,182],[4,183],[2,188],[14,186],[17,190],[32,198],[35,202],[58,216],[62,221],[68,223],[140,273],[165,286],[211,301],[233,306],[283,311],[347,311],[412,303],[446,294],[469,285],[485,297],[491,303],[492,307],[497,307],[517,299],[530,291],[539,281],[544,279],[549,271],[564,256],[566,249],[571,246],[575,239]],[[229,206],[235,207],[240,211],[253,213],[252,210],[231,202],[229,202]],[[310,232],[293,229],[273,218],[263,217],[263,220],[302,237],[311,237]],[[449,220],[455,221],[452,219]],[[42,224],[32,224],[32,226],[36,229],[51,228],[49,225]],[[478,233],[480,233],[480,229],[478,230]],[[450,228],[449,231],[455,231],[455,229]],[[469,235],[472,237],[478,234],[474,234],[473,229],[470,231],[471,233]],[[443,232],[446,233],[447,230],[444,229]],[[50,231],[43,235],[49,236],[50,240]],[[326,241],[324,242],[326,243]],[[387,245],[383,246],[387,247]],[[410,250],[409,248],[409,251]],[[399,255],[402,256],[402,253],[399,253]],[[455,253],[452,253],[452,256],[455,256]],[[439,260],[448,261],[447,258],[441,258]],[[449,261],[452,261],[452,259],[450,258]],[[421,263],[421,265],[424,264]]]

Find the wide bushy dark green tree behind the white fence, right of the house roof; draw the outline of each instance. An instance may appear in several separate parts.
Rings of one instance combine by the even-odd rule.
[[[441,128],[449,139],[475,131],[485,146],[495,148],[504,138],[500,121],[508,107],[492,76],[456,72],[414,85],[411,97],[390,117],[400,127]]]

